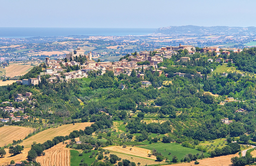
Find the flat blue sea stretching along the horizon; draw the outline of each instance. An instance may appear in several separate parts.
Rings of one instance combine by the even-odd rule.
[[[29,38],[47,36],[71,36],[71,35],[103,35],[126,36],[147,35],[156,28],[14,28],[0,27],[1,38]]]

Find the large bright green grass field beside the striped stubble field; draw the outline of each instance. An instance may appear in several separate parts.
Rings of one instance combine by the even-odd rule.
[[[172,160],[174,155],[177,156],[178,160],[180,160],[188,153],[192,153],[193,155],[200,153],[200,151],[196,149],[186,148],[178,143],[158,143],[140,147],[149,150],[156,149],[156,151],[161,152],[164,156],[167,156],[169,160]],[[169,152],[171,152],[171,155],[168,155]],[[205,152],[204,155],[205,157],[210,156],[207,152]]]

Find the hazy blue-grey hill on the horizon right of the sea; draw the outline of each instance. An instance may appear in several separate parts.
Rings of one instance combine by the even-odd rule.
[[[193,25],[187,26],[169,26],[158,28],[153,34],[155,35],[255,35],[256,27],[227,27],[227,26],[214,26],[214,27],[199,27]]]

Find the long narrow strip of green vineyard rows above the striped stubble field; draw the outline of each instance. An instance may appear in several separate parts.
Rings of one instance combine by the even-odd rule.
[[[113,140],[114,143],[116,144],[119,144],[119,145],[130,145],[130,146],[139,146],[139,145],[145,145],[141,142],[137,142],[137,141],[125,141],[125,142],[122,142],[123,139],[121,138],[118,138],[114,135],[111,135],[111,136],[107,136],[107,133],[95,133],[96,135],[100,135],[102,136],[103,138],[105,138],[106,140]]]

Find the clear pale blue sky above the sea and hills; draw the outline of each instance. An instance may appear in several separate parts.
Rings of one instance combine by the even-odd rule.
[[[0,27],[256,26],[256,1],[0,0]]]

